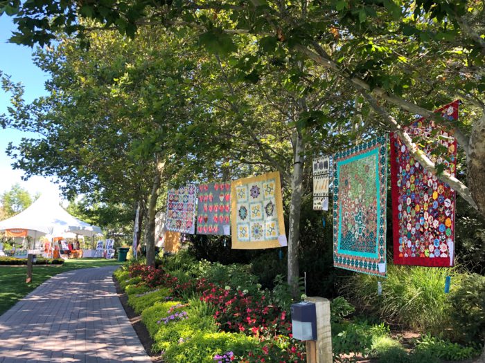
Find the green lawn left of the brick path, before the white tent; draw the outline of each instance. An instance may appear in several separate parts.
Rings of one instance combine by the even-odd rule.
[[[72,259],[63,266],[34,266],[31,283],[25,283],[26,267],[0,267],[0,315],[12,307],[19,299],[34,290],[55,274],[78,268],[121,265],[122,262],[107,259]]]

